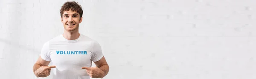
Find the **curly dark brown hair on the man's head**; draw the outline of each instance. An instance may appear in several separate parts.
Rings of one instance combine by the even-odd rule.
[[[61,17],[64,11],[69,11],[71,9],[71,11],[77,11],[80,15],[80,17],[83,16],[83,10],[81,5],[79,5],[77,2],[75,1],[67,1],[63,4],[63,6],[61,6]]]

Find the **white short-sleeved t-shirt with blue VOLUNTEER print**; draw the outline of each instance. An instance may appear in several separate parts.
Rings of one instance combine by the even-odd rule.
[[[90,79],[81,68],[91,67],[92,61],[99,61],[103,54],[99,43],[85,35],[67,40],[61,34],[44,43],[41,57],[56,66],[51,70],[53,79]]]

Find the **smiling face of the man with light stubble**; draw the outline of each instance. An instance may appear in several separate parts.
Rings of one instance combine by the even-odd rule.
[[[76,11],[64,11],[61,18],[64,29],[70,32],[78,30],[79,23],[82,22],[82,17],[79,17],[79,13]]]

